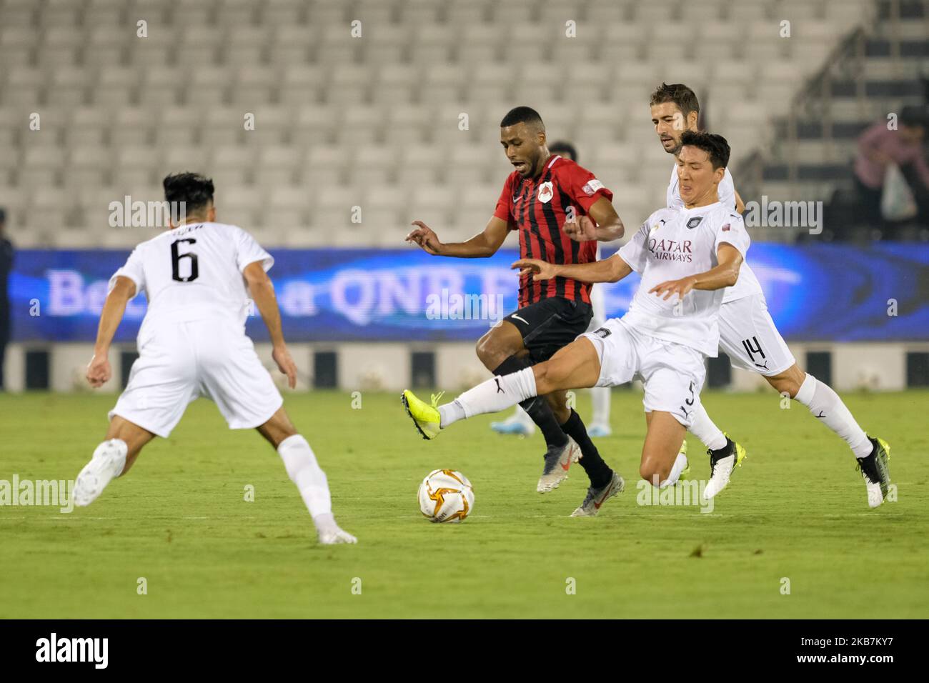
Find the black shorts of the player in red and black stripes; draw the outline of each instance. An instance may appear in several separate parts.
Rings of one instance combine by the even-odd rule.
[[[587,332],[593,317],[590,304],[553,296],[510,313],[504,321],[517,326],[531,361],[542,362]]]

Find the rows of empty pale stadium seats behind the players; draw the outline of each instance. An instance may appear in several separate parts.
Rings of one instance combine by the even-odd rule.
[[[788,113],[841,33],[875,16],[870,0],[2,0],[0,192],[157,189],[184,166],[211,173],[217,196],[242,190],[220,201],[267,223],[265,235],[270,218],[287,223],[280,243],[329,243],[334,219],[346,225],[340,243],[394,244],[412,214],[458,234],[486,222],[492,205],[467,198],[487,190],[495,202],[510,172],[498,124],[529,104],[549,138],[576,143],[612,190],[635,183],[620,196],[625,219],[655,208],[670,168],[648,120],[656,85],[694,87],[705,121],[740,159],[772,135],[765,124]],[[356,19],[360,39],[350,33]],[[790,39],[779,35],[782,19],[792,21]],[[874,34],[915,42],[924,33],[922,20],[898,21],[896,33],[889,23]],[[864,70],[890,84],[919,76],[918,59],[866,59]],[[848,131],[886,107],[832,98],[844,138],[805,141],[799,156],[844,159]],[[41,131],[29,130],[32,112]],[[303,190],[324,204],[320,216],[296,202]],[[348,197],[337,190],[363,192],[365,215],[386,227],[347,222]],[[46,217],[86,220],[45,205]],[[96,230],[67,239],[81,234],[125,239]]]

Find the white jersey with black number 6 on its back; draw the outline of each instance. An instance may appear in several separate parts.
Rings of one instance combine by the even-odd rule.
[[[196,321],[221,316],[245,322],[248,292],[242,269],[274,264],[245,230],[224,223],[190,223],[140,243],[116,278],[136,283],[149,301],[143,326],[157,321]],[[141,331],[139,333],[141,335]]]

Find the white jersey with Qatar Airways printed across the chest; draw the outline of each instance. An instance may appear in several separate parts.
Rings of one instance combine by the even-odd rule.
[[[662,208],[648,217],[620,257],[642,276],[623,322],[663,341],[695,348],[715,357],[719,348],[717,317],[723,290],[691,290],[678,303],[649,293],[656,285],[713,269],[721,243],[748,252],[748,232],[742,217],[720,202],[707,206]]]

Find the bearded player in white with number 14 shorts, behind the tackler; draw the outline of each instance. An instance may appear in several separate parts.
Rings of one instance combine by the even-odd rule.
[[[661,146],[679,162],[682,135],[698,130],[700,103],[697,96],[687,85],[662,83],[652,93],[650,105],[651,122]],[[678,164],[675,164],[667,194],[667,204],[673,208],[684,205],[677,169]],[[727,169],[719,183],[719,200],[739,213],[744,209]],[[883,439],[870,437],[858,427],[831,387],[800,369],[767,312],[765,294],[748,263],[742,265],[739,280],[726,288],[723,296],[719,310],[719,346],[733,367],[764,375],[768,384],[780,394],[787,394],[805,405],[822,424],[844,439],[857,458],[867,487],[868,505],[877,507],[883,503],[890,482],[887,466],[890,447]],[[702,405],[695,411],[690,431],[709,450],[712,472],[706,495],[712,497],[726,486],[744,451],[713,424]]]

